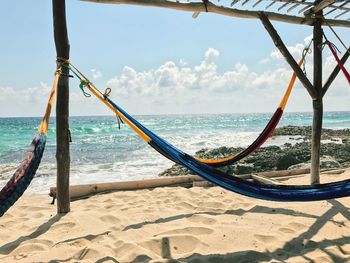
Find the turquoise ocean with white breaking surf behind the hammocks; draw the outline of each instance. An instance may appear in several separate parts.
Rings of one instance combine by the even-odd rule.
[[[217,115],[135,116],[147,128],[183,151],[247,146],[261,132],[271,113]],[[0,187],[24,159],[41,118],[0,118]],[[311,113],[285,113],[279,127],[311,125]],[[350,112],[326,112],[324,127],[350,128]],[[143,142],[113,116],[71,117],[71,184],[130,181],[155,178],[172,162]],[[48,192],[55,185],[55,118],[51,118],[46,150],[28,191]],[[269,139],[265,145],[295,143],[289,136]]]

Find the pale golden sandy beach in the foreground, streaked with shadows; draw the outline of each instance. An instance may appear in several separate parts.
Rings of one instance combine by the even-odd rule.
[[[219,187],[163,187],[77,200],[67,215],[50,202],[24,195],[0,218],[1,262],[350,261],[349,197],[276,203]]]

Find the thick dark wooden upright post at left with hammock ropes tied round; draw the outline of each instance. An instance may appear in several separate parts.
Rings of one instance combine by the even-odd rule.
[[[65,0],[52,0],[53,27],[57,58],[69,59],[69,40]],[[57,87],[56,104],[56,160],[57,160],[57,213],[70,211],[69,197],[69,70],[62,68]]]

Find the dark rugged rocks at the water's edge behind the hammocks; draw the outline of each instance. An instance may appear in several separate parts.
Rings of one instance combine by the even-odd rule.
[[[310,167],[311,159],[311,127],[286,126],[276,129],[273,136],[300,136],[302,140],[292,145],[261,147],[255,153],[243,160],[220,168],[232,174],[259,173],[265,171],[286,170]],[[294,138],[294,137],[293,137]],[[350,164],[350,130],[323,129],[321,146],[321,169],[341,168]],[[201,149],[195,156],[206,159],[219,159],[234,155],[243,148],[219,147],[216,149]],[[191,174],[180,165],[173,165],[160,176],[175,176]]]

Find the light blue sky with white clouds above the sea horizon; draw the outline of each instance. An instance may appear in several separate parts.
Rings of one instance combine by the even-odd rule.
[[[111,88],[111,98],[131,114],[273,112],[292,75],[259,20],[66,2],[71,61],[101,90]],[[0,117],[41,116],[56,66],[51,1],[1,0],[0,14]],[[273,25],[299,60],[312,28]],[[349,29],[336,30],[349,44]],[[335,61],[326,48],[323,54],[325,81]],[[310,55],[310,80],[312,68]],[[78,84],[70,80],[70,115],[111,114]],[[339,74],[324,109],[350,110],[349,100],[349,84]],[[312,111],[299,82],[286,110]]]

